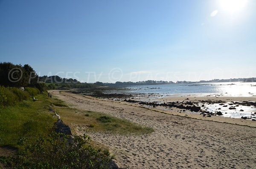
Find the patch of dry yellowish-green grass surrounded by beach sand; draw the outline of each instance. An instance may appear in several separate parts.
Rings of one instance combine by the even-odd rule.
[[[126,119],[113,117],[101,112],[84,111],[70,107],[54,106],[64,123],[73,128],[73,124],[86,126],[88,131],[113,132],[122,135],[149,134],[154,131],[151,127],[142,126]]]

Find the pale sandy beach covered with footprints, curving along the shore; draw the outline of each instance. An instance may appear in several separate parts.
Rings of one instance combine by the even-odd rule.
[[[86,133],[110,148],[119,167],[256,168],[256,128],[166,115],[123,102],[51,92],[77,109],[104,112],[154,128],[151,135],[140,136]],[[75,130],[77,134],[84,133],[82,126],[76,125]]]

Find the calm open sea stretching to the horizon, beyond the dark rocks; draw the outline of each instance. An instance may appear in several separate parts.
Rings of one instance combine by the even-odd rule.
[[[130,86],[126,92],[154,93],[163,96],[177,94],[220,94],[223,96],[249,97],[256,95],[256,82],[254,83],[198,83],[198,84],[165,84],[151,86]]]

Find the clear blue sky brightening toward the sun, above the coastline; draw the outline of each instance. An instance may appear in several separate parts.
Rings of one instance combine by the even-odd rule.
[[[0,62],[87,83],[256,77],[256,0],[230,1],[0,0]]]

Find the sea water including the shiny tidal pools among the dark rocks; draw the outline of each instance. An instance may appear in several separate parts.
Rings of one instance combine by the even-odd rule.
[[[151,86],[128,86],[127,90],[115,91],[124,94],[133,94],[134,100],[163,103],[165,97],[202,97],[215,96],[219,97],[248,97],[247,101],[256,98],[256,82],[254,83],[193,83],[193,84],[164,84]],[[144,97],[143,97],[144,95]],[[203,103],[199,103],[202,106]],[[226,105],[232,102],[225,103]],[[221,111],[224,117],[241,118],[247,117],[247,120],[256,120],[256,107],[239,105],[235,110],[230,110],[230,106],[224,107],[219,104],[209,104],[204,110],[209,112]],[[161,109],[161,108],[160,108]],[[165,108],[164,108],[165,109]],[[191,113],[191,112],[187,112]]]

